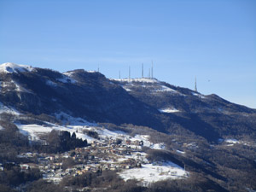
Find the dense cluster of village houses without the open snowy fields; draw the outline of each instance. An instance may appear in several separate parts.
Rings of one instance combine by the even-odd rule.
[[[22,172],[38,168],[49,182],[59,183],[67,175],[77,176],[85,172],[105,170],[122,171],[141,167],[148,160],[141,154],[143,141],[128,138],[105,137],[95,140],[84,148],[75,148],[62,154],[19,154],[18,157],[30,159],[32,163],[20,164]],[[75,166],[64,167],[65,160],[72,160]],[[71,165],[73,165],[71,164]],[[1,169],[0,165],[0,169]]]

